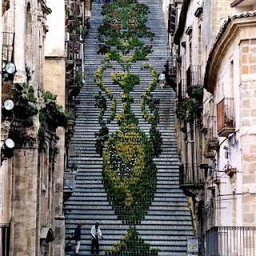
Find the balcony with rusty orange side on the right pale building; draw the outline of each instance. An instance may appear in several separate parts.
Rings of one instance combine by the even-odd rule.
[[[223,98],[217,104],[217,129],[218,136],[228,137],[229,134],[235,132],[234,124],[234,98]]]

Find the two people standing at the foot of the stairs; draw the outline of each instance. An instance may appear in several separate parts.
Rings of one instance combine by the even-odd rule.
[[[75,240],[75,248],[74,248],[74,253],[79,254],[79,249],[80,249],[80,243],[81,243],[81,228],[82,228],[82,223],[78,223],[78,226],[74,230],[74,240]],[[96,254],[99,253],[99,246],[98,246],[98,238],[102,238],[102,231],[99,228],[98,222],[95,223],[94,226],[92,226],[90,230],[91,234],[91,250],[90,253],[94,254],[94,247],[95,247],[95,252]]]

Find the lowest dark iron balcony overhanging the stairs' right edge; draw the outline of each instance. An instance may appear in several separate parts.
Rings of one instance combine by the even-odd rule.
[[[204,170],[196,164],[179,166],[179,187],[186,196],[198,194],[204,188]]]

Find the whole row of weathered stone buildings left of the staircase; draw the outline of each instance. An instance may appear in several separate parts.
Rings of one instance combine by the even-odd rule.
[[[70,88],[79,79],[81,86],[83,71],[83,59],[67,53],[66,10],[72,6],[79,15],[75,50],[82,56],[90,1],[2,0],[0,6],[0,252],[64,255],[63,183],[75,121]]]

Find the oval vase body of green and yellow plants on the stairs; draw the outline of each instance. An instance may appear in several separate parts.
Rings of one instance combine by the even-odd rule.
[[[122,126],[106,142],[104,184],[118,218],[127,223],[140,222],[154,197],[157,170],[153,155],[146,134],[134,124]]]

